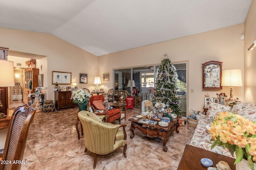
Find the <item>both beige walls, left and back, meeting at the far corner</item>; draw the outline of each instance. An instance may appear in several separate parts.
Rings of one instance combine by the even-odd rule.
[[[197,35],[147,45],[118,53],[96,57],[54,35],[0,28],[0,46],[12,51],[47,56],[37,61],[37,68],[42,64],[46,100],[54,100],[52,71],[72,72],[72,82],[79,88],[93,90],[94,76],[110,73],[110,81],[102,81],[100,88],[106,90],[113,86],[113,68],[127,68],[161,63],[163,54],[169,53],[172,62],[188,61],[188,108],[202,110],[204,95],[223,90],[202,90],[202,63],[222,61],[223,69],[240,68],[244,73],[244,24],[208,31]],[[79,84],[79,73],[88,74],[88,84]],[[63,86],[63,85],[61,85]],[[66,85],[65,85],[66,86]],[[194,89],[194,93],[190,90]],[[233,95],[244,101],[244,88],[234,87]]]

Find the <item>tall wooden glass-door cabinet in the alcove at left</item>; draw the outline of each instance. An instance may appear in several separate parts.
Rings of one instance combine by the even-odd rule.
[[[25,86],[23,90],[23,102],[24,104],[29,103],[28,94],[34,93],[35,88],[38,87],[38,68],[27,68],[25,70]]]

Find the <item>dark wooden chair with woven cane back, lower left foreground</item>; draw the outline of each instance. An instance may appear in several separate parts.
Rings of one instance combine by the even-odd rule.
[[[30,107],[24,105],[14,110],[9,123],[4,150],[0,154],[0,160],[2,157],[2,160],[11,161],[11,164],[0,164],[0,170],[20,169],[21,164],[13,164],[13,161],[22,161],[28,129],[36,112],[35,106],[35,104],[32,104]]]

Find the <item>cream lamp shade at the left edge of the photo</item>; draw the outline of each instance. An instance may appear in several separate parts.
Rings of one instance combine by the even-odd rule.
[[[14,86],[14,66],[12,61],[0,60],[0,87]]]

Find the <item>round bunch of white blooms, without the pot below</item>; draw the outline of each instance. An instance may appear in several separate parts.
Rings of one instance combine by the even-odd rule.
[[[73,99],[73,102],[75,104],[84,104],[88,102],[89,98],[91,97],[91,94],[84,89],[77,89],[72,91],[71,98]]]

